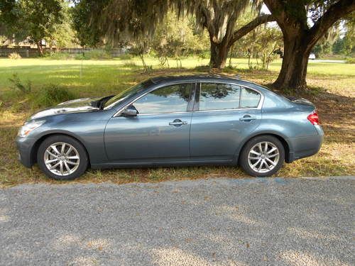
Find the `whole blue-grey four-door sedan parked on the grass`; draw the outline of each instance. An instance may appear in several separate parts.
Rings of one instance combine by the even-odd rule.
[[[275,174],[320,150],[315,106],[233,77],[154,77],[116,96],[66,101],[33,114],[16,138],[19,160],[54,179],[87,167],[241,165]]]

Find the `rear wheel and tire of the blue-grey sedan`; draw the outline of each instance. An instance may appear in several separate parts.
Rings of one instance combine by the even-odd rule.
[[[239,157],[241,168],[253,177],[269,177],[275,174],[283,166],[284,161],[285,148],[280,140],[272,135],[252,138],[244,145]]]

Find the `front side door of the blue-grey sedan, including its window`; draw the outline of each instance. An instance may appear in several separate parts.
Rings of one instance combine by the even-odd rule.
[[[137,116],[112,117],[105,129],[111,162],[188,160],[195,83],[160,87],[131,104]]]

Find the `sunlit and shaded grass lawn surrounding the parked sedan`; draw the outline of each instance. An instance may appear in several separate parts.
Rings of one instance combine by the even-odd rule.
[[[55,182],[44,176],[35,166],[23,167],[16,159],[14,138],[21,123],[35,110],[30,97],[17,92],[9,78],[13,74],[32,90],[48,84],[67,87],[78,97],[116,94],[147,77],[158,74],[191,74],[206,71],[208,60],[182,60],[182,69],[161,68],[158,60],[147,59],[153,66],[150,73],[142,73],[138,58],[131,60],[48,60],[0,59],[0,186],[23,182]],[[280,60],[272,62],[269,71],[249,70],[246,59],[232,60],[233,69],[226,74],[239,74],[259,84],[271,84],[280,70]],[[170,66],[175,61],[170,60]],[[355,174],[355,65],[329,62],[310,62],[308,92],[303,98],[317,105],[325,132],[320,153],[291,164],[285,164],[278,176],[328,176]],[[166,179],[193,179],[204,177],[245,177],[239,167],[176,167],[129,170],[88,170],[76,182],[157,182]],[[56,182],[58,183],[58,182]]]

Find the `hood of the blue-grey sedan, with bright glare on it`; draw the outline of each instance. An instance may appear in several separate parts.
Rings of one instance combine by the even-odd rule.
[[[82,98],[72,101],[65,101],[56,106],[34,113],[29,120],[43,118],[45,116],[55,116],[62,113],[79,113],[99,110],[97,101],[102,97]]]

